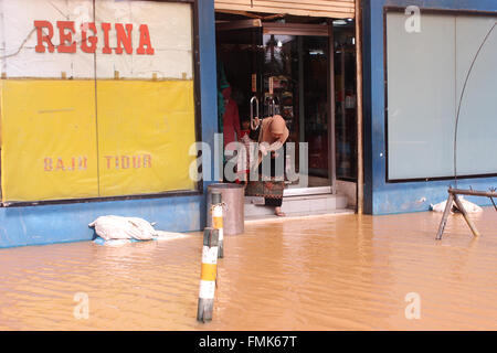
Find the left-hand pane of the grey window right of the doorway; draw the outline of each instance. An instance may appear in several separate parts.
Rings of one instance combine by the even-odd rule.
[[[455,22],[426,14],[419,33],[388,13],[388,158],[390,179],[452,173]]]

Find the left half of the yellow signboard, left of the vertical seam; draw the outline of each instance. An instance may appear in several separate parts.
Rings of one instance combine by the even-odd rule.
[[[2,79],[3,201],[98,196],[95,84]]]

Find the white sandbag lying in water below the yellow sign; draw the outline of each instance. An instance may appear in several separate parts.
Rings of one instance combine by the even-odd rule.
[[[105,240],[138,239],[147,240],[156,236],[156,229],[145,220],[137,217],[101,216],[88,224]]]

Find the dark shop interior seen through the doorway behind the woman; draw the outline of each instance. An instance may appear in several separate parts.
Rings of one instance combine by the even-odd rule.
[[[230,120],[236,125],[235,138],[246,133],[257,108],[263,118],[281,115],[289,129],[287,141],[308,143],[304,193],[330,193],[337,180],[356,182],[353,20],[234,11],[216,12],[215,19],[218,84],[228,83],[236,103],[237,118]],[[290,167],[298,173],[298,143],[295,154]],[[287,181],[287,189],[304,188]]]

